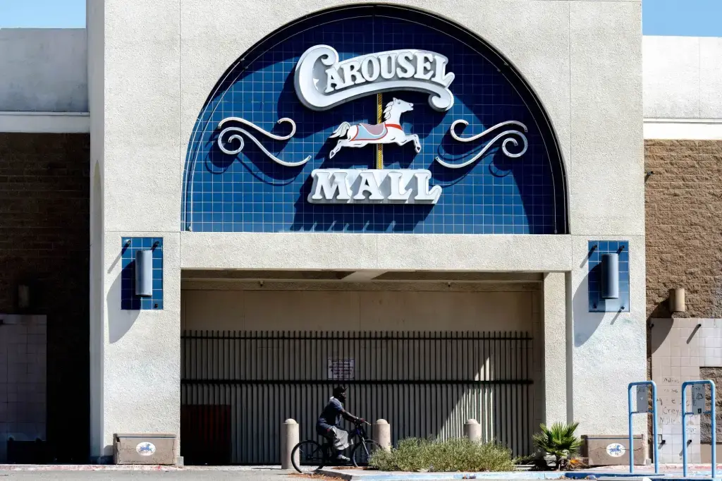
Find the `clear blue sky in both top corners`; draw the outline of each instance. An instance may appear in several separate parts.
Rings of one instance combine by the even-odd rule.
[[[85,0],[0,0],[0,28],[84,26]],[[722,37],[722,0],[643,0],[642,29],[644,35]]]

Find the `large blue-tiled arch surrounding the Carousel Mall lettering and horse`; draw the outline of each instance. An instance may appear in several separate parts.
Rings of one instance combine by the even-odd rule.
[[[566,233],[565,175],[549,123],[541,110],[534,110],[540,104],[529,97],[531,90],[503,58],[480,40],[464,35],[469,37],[428,14],[393,6],[358,6],[284,28],[246,52],[214,88],[193,129],[184,169],[181,230]],[[401,117],[401,125],[407,133],[418,134],[422,144],[419,154],[411,143],[384,145],[384,167],[430,170],[431,185],[443,188],[438,204],[307,202],[311,170],[375,167],[375,146],[342,149],[329,159],[335,142],[328,139],[344,121],[375,123],[375,95],[322,112],[305,108],[296,96],[297,60],[307,48],[321,43],[336,48],[342,60],[398,48],[448,56],[447,71],[456,75],[450,87],[455,103],[448,112],[433,110],[428,95],[420,92],[383,94],[384,103],[399,97],[414,104],[414,110]],[[238,155],[225,154],[217,145],[218,124],[230,116],[279,135],[287,134],[289,126],[277,121],[292,118],[297,131],[290,140],[279,142],[254,134],[282,160],[294,162],[311,155],[310,162],[297,168],[279,165],[248,138]],[[455,141],[448,132],[459,119],[469,122],[464,136],[497,123],[520,121],[529,128],[529,147],[521,157],[510,158],[496,145],[468,168],[444,168],[435,162],[436,156],[461,163],[490,140]],[[513,151],[513,146],[508,147]]]

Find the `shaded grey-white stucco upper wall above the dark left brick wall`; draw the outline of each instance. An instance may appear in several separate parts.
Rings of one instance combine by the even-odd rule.
[[[87,112],[84,28],[0,29],[0,112]]]

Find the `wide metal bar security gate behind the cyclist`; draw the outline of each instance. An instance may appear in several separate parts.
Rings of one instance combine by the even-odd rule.
[[[521,332],[233,332],[181,336],[186,464],[278,464],[282,423],[317,438],[336,385],[346,408],[399,439],[462,436],[482,425],[515,455],[531,451],[532,342]]]

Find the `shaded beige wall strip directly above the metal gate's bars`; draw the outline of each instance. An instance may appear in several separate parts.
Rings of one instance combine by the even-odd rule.
[[[531,291],[183,290],[181,329],[529,331]]]

